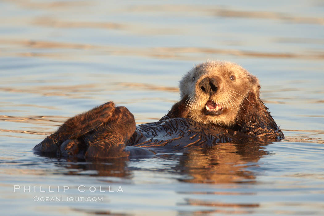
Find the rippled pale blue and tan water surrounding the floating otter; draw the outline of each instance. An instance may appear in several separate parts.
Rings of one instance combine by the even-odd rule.
[[[0,11],[1,215],[324,214],[323,1],[5,0]],[[156,121],[207,59],[260,78],[286,139],[92,163],[32,152],[106,101]]]

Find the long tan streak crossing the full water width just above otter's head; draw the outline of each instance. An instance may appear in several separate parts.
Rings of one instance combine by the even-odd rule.
[[[50,57],[60,59],[75,59],[79,55],[114,55],[114,56],[143,56],[157,59],[196,60],[201,54],[222,54],[258,58],[293,58],[305,60],[324,59],[323,52],[310,52],[309,54],[296,52],[268,52],[268,51],[247,51],[236,49],[214,49],[204,47],[121,47],[121,46],[98,46],[91,44],[62,43],[44,40],[11,40],[0,38],[0,45],[17,46],[11,47],[10,51],[0,53],[0,56],[27,56],[27,57]],[[24,47],[27,51],[22,51]],[[35,49],[35,51],[30,51]],[[64,52],[51,52],[44,49],[69,49]],[[43,52],[40,52],[43,51]],[[80,53],[79,50],[94,51],[92,53]],[[73,55],[72,55],[73,53]],[[195,55],[195,56],[192,56]]]

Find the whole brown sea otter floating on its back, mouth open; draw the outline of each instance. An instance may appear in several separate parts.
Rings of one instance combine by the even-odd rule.
[[[182,77],[179,87],[180,101],[157,122],[136,127],[127,108],[108,102],[66,120],[34,150],[106,159],[241,139],[284,138],[260,100],[258,78],[235,63],[199,64]]]

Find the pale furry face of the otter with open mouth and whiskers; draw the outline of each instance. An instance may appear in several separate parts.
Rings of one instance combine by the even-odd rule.
[[[259,80],[241,66],[212,61],[197,65],[180,80],[180,97],[188,97],[189,117],[204,124],[234,124],[250,91],[260,89]]]

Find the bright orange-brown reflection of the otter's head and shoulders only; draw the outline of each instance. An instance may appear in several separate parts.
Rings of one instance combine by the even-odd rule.
[[[253,172],[245,170],[251,163],[267,153],[258,143],[219,143],[213,148],[195,149],[179,159],[177,169],[191,179],[181,181],[191,183],[231,183],[253,182]]]

